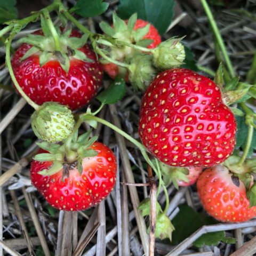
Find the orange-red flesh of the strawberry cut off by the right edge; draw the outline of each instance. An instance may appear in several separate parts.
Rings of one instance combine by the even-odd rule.
[[[198,196],[207,213],[223,222],[243,222],[256,216],[256,206],[249,208],[244,183],[232,178],[222,165],[206,169],[197,180]]]

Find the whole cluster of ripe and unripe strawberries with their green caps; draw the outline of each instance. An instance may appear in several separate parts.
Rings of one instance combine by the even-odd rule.
[[[139,119],[143,145],[131,141],[155,157],[145,159],[161,180],[159,186],[166,189],[173,182],[178,188],[197,181],[198,196],[214,218],[229,222],[256,216],[255,204],[249,201],[254,162],[231,156],[237,125],[227,105],[237,94],[180,67],[186,58],[182,38],[161,42],[157,29],[137,14],[122,20],[114,13],[112,26],[100,23],[104,35],[55,28],[49,18],[44,13],[42,30],[20,39],[22,45],[12,58],[14,84],[36,106],[31,125],[43,141],[30,174],[47,202],[60,210],[85,210],[115,186],[113,151],[91,137],[91,131],[78,136],[82,122],[95,126],[91,121],[104,103],[95,113],[88,108],[76,122],[71,112],[97,94],[104,70],[145,91]],[[239,93],[239,99],[244,97]],[[148,198],[139,209],[143,216],[150,214]],[[157,203],[156,237],[171,239],[174,227],[166,209],[167,203],[164,211]]]

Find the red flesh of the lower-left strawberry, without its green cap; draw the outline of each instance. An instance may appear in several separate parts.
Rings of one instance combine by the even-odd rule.
[[[117,169],[115,155],[100,142],[94,142],[89,149],[97,151],[98,155],[83,159],[82,174],[79,174],[76,163],[66,164],[66,178],[67,173],[63,173],[63,169],[53,175],[38,174],[49,169],[52,166],[51,161],[34,160],[31,163],[31,181],[49,204],[60,210],[85,210],[97,205],[113,190]],[[47,151],[41,150],[40,153],[45,152]]]

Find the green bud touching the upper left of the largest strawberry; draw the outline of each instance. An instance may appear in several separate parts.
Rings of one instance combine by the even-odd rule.
[[[131,60],[129,68],[129,81],[134,89],[145,91],[155,76],[159,73],[153,66],[153,56],[138,54]]]

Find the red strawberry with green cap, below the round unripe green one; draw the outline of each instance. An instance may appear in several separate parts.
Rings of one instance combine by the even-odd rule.
[[[41,146],[47,148],[46,143]],[[76,143],[73,146],[77,147]],[[80,157],[73,162],[65,159],[63,146],[56,147],[50,149],[52,154],[39,151],[41,154],[35,157],[30,167],[31,182],[49,204],[59,210],[80,211],[97,205],[109,195],[116,180],[117,164],[113,151],[92,141],[86,149],[74,150]]]

